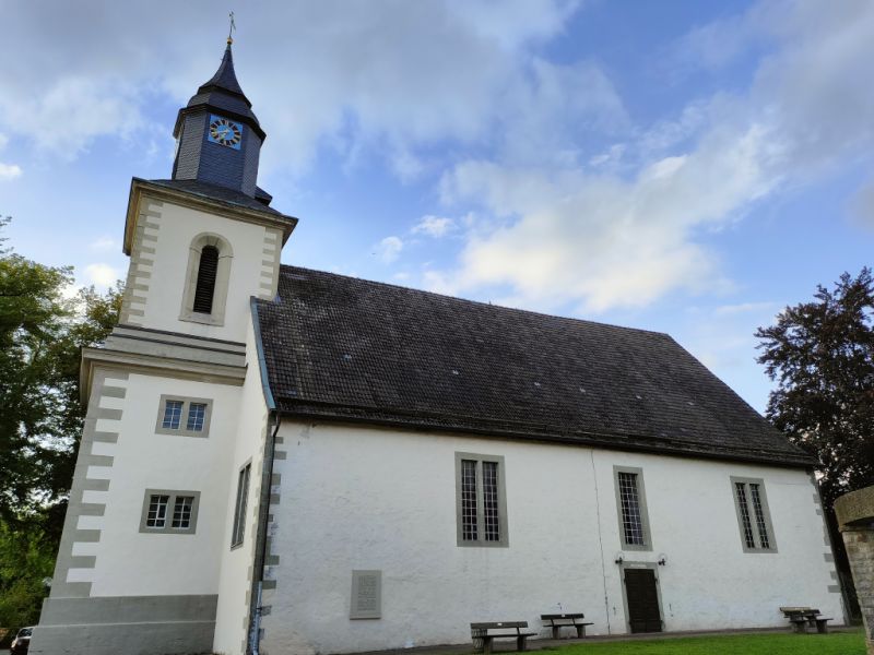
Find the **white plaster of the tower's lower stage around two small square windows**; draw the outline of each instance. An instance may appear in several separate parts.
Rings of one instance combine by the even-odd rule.
[[[105,513],[79,517],[79,529],[99,529],[101,537],[76,544],[73,555],[96,556],[96,563],[70,575],[91,582],[92,596],[216,594],[239,388],[139,373],[130,373],[126,386],[123,398],[102,405],[120,409],[121,418],[97,421],[97,430],[119,434],[117,443],[94,444],[94,454],[114,461],[92,467],[88,477],[108,479],[109,488],[85,492],[86,502],[106,503]],[[211,398],[209,437],[156,433],[162,394]],[[200,491],[194,534],[141,533],[145,489]]]

